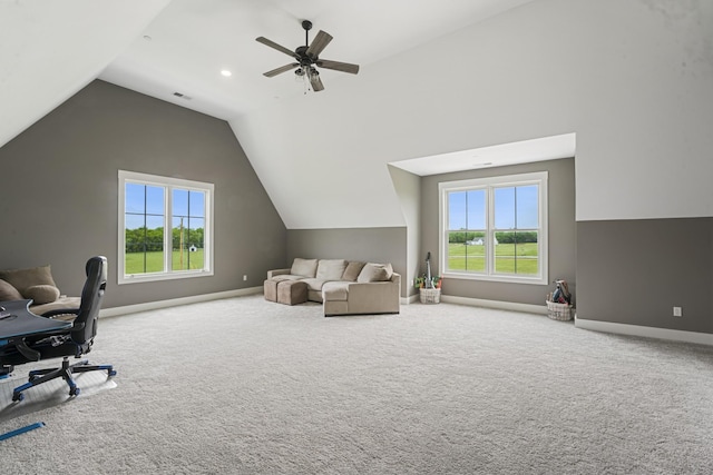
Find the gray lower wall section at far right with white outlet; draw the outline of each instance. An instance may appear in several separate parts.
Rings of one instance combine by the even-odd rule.
[[[582,221],[577,249],[578,318],[713,333],[713,218]]]

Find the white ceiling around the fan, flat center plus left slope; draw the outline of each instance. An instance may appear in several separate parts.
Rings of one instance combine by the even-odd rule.
[[[0,145],[97,77],[224,120],[304,95],[292,73],[262,76],[292,60],[255,41],[304,44],[303,19],[314,24],[310,40],[319,30],[334,37],[324,58],[368,69],[528,1],[450,0],[447,8],[409,0],[2,2],[0,93],[8,120]],[[328,90],[358,80],[321,72]]]

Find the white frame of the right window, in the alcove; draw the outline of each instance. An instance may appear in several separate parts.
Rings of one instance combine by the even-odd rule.
[[[459,181],[443,181],[438,185],[439,189],[439,263],[441,266],[441,276],[446,278],[469,279],[469,280],[489,280],[511,284],[535,284],[547,285],[548,279],[548,217],[547,217],[547,171],[537,171],[531,174],[507,175],[499,177],[476,178]],[[452,191],[467,191],[471,189],[486,189],[486,236],[489,243],[495,238],[495,189],[501,187],[518,187],[527,185],[538,185],[538,259],[539,274],[534,276],[527,275],[506,275],[495,273],[495,246],[487,246],[486,250],[486,270],[485,273],[448,270],[448,194]]]

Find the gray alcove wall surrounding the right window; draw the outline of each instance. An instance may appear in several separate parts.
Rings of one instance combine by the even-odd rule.
[[[548,171],[548,218],[549,218],[549,280],[567,280],[569,289],[577,298],[576,274],[576,224],[575,224],[575,160],[550,160],[510,167],[496,167],[455,174],[423,177],[421,200],[421,254],[431,253],[433,274],[440,274],[438,261],[438,184],[441,181],[495,177],[501,175]],[[426,270],[422,263],[421,273]],[[442,294],[486,300],[512,301],[518,304],[545,305],[551,285],[504,284],[486,280],[443,279]]]

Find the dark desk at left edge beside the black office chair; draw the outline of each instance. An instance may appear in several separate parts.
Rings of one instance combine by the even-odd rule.
[[[17,349],[28,360],[37,362],[40,354],[27,346],[25,338],[32,335],[52,334],[71,327],[71,321],[52,320],[29,310],[32,300],[0,301],[0,375],[8,374],[12,366],[2,364],[6,350]]]

